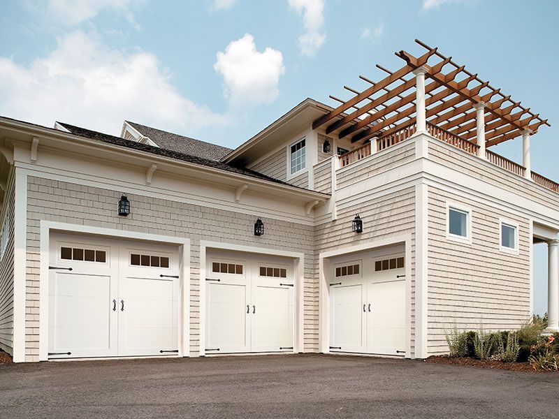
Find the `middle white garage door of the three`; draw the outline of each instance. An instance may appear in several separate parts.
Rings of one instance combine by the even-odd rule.
[[[210,253],[205,352],[293,351],[293,263]]]

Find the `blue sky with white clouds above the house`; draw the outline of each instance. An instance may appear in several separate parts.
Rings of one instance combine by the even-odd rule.
[[[300,101],[398,69],[415,38],[549,119],[532,168],[559,179],[559,2],[0,0],[0,115],[119,135],[124,119],[236,147]],[[521,162],[521,140],[494,151]],[[535,311],[546,310],[535,246]]]

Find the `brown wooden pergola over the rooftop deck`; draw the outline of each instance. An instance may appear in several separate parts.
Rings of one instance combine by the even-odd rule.
[[[312,127],[326,127],[326,134],[337,133],[338,138],[350,138],[352,143],[365,143],[405,130],[418,117],[419,75],[424,75],[421,115],[425,115],[427,126],[436,126],[448,135],[477,144],[481,119],[481,138],[485,138],[485,147],[491,147],[523,133],[537,133],[542,125],[549,126],[547,119],[456,64],[451,57],[445,57],[437,48],[419,40],[416,43],[426,49],[425,54],[415,57],[403,50],[396,52],[405,61],[402,68],[392,72],[377,65],[387,73],[378,82],[359,76],[370,87],[363,91],[344,87],[354,94],[345,101],[330,96],[341,104],[314,121]]]

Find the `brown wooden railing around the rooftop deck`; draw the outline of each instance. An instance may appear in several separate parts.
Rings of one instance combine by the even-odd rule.
[[[473,142],[465,140],[464,138],[460,138],[458,135],[455,135],[449,131],[445,131],[444,129],[439,128],[438,126],[429,123],[427,123],[427,131],[431,136],[437,138],[437,140],[447,142],[448,144],[453,145],[454,147],[463,149],[465,152],[469,154],[477,155],[477,150],[479,149],[479,146],[474,144]],[[415,132],[416,132],[416,124],[415,122],[411,122],[410,124],[403,126],[398,131],[383,135],[377,138],[376,140],[373,140],[372,142],[368,142],[367,144],[362,145],[361,147],[358,147],[356,149],[351,150],[350,152],[342,154],[340,156],[340,166],[343,168],[345,166],[349,166],[352,163],[356,163],[357,161],[360,161],[365,157],[370,156],[372,151],[371,145],[375,145],[376,147],[375,152],[380,152],[384,149],[387,149],[389,147],[392,147],[393,145],[398,144],[398,142],[407,140],[407,138],[410,138],[412,135],[414,135]],[[515,163],[514,161],[511,161],[509,159],[506,159],[503,156],[500,156],[499,154],[491,152],[490,150],[487,149],[486,149],[486,159],[490,163],[493,163],[495,166],[499,166],[500,168],[512,172],[515,175],[523,177],[525,174],[525,168],[522,165]],[[551,191],[559,193],[559,184],[551,179],[548,179],[542,175],[538,175],[537,173],[532,172],[532,180],[536,184],[544,186],[544,188],[546,189],[550,189]]]

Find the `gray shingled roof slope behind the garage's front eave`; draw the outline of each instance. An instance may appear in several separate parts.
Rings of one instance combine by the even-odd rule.
[[[137,124],[136,122],[126,121],[126,123],[130,124],[132,128],[136,129],[140,134],[150,138],[150,140],[159,145],[159,147],[173,152],[218,161],[233,151],[221,145],[195,140],[194,138],[184,137],[184,135],[168,133],[167,131],[161,131],[151,126]]]

